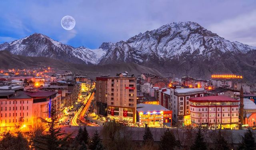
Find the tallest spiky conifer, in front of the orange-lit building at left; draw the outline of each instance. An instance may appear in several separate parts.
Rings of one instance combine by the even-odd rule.
[[[33,140],[34,144],[33,146],[36,149],[43,149],[43,150],[59,150],[64,149],[62,147],[62,144],[64,144],[64,141],[67,140],[66,138],[61,138],[61,136],[64,135],[64,133],[61,132],[61,128],[58,127],[58,111],[56,110],[56,104],[55,101],[52,100],[51,104],[51,111],[50,111],[50,119],[45,120],[41,118],[42,122],[46,123],[46,126],[48,130],[46,131],[46,134],[35,138]]]

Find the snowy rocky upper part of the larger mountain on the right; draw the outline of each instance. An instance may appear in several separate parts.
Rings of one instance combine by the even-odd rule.
[[[195,22],[170,23],[152,31],[140,33],[126,42],[103,43],[106,50],[101,64],[109,62],[136,62],[147,64],[150,61],[165,61],[184,53],[206,57],[216,52],[246,53],[256,47],[239,42],[230,42]]]

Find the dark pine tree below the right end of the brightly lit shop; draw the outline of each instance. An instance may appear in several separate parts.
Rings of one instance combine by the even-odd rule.
[[[165,130],[164,134],[161,136],[160,139],[160,150],[174,150],[176,146],[175,136],[169,129]]]

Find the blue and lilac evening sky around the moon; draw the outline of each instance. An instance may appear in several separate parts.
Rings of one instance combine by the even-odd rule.
[[[60,25],[66,15],[76,20],[73,30]],[[0,44],[36,32],[74,47],[98,48],[186,21],[256,46],[256,0],[1,0]]]

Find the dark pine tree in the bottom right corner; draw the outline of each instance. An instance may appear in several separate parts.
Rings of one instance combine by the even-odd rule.
[[[252,130],[249,128],[242,137],[242,141],[239,145],[239,150],[255,150],[256,145],[253,137]]]

